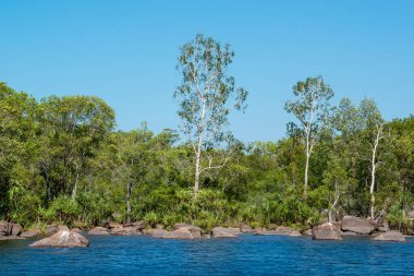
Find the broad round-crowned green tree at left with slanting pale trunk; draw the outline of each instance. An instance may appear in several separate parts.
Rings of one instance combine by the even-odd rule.
[[[100,98],[87,96],[50,96],[41,100],[40,108],[41,171],[48,185],[54,185],[52,197],[70,191],[75,199],[89,160],[113,129],[113,109]]]

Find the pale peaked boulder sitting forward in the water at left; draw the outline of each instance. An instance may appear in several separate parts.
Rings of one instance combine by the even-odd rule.
[[[89,241],[80,233],[71,232],[69,230],[60,230],[59,232],[35,241],[31,244],[33,248],[85,248]]]

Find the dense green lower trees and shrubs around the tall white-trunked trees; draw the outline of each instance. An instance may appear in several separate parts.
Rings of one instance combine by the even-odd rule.
[[[231,161],[206,172],[194,196],[194,153],[166,130],[114,131],[114,112],[97,97],[51,96],[39,103],[0,84],[0,216],[32,224],[100,225],[145,219],[204,228],[248,223],[307,228],[343,214],[369,216],[375,103],[341,101],[334,128],[306,164],[301,137],[238,143]],[[375,217],[412,230],[414,118],[382,124]],[[215,149],[215,155],[224,155]],[[333,206],[334,201],[336,205]]]

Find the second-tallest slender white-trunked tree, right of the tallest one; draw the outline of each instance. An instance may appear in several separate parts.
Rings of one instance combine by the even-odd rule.
[[[307,77],[305,82],[297,82],[293,86],[295,100],[287,101],[284,109],[293,113],[300,122],[288,124],[290,134],[299,135],[305,145],[305,177],[304,177],[304,197],[307,197],[309,159],[315,144],[319,141],[320,134],[329,125],[330,98],[333,91],[326,84],[321,76]]]

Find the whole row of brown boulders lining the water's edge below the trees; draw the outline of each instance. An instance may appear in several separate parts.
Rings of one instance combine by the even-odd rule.
[[[88,231],[80,228],[69,229],[62,225],[50,225],[44,231],[33,229],[23,231],[19,224],[0,221],[0,241],[25,239],[34,237],[47,237],[31,244],[31,247],[87,247],[88,240],[82,236],[139,236],[146,235],[160,239],[210,239],[210,238],[236,238],[241,233],[260,236],[312,236],[314,240],[341,240],[345,236],[367,236],[377,241],[404,242],[405,236],[397,230],[390,230],[387,223],[379,223],[367,218],[344,216],[340,221],[325,223],[319,226],[300,232],[296,229],[279,226],[275,229],[252,228],[248,225],[239,227],[215,227],[210,231],[204,231],[198,226],[191,224],[175,224],[173,229],[166,230],[162,226],[149,228],[145,221],[127,225],[108,221],[101,227],[94,227]]]

